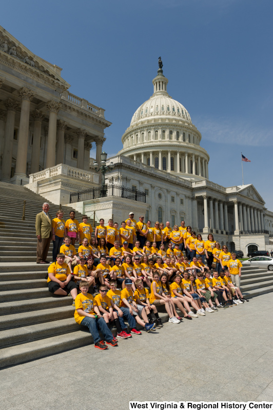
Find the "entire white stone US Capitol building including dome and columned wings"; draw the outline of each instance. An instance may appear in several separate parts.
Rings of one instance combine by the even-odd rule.
[[[71,201],[96,219],[113,215],[120,223],[131,211],[136,219],[144,214],[152,226],[184,219],[204,239],[211,232],[229,250],[271,250],[273,213],[251,184],[223,187],[209,180],[201,133],[169,96],[162,67],[160,58],[153,94],[133,114],[123,149],[106,161],[113,164],[102,195],[90,149],[94,143],[101,163],[104,130],[111,125],[105,110],[71,94],[60,67],[0,26],[1,180],[57,204]]]

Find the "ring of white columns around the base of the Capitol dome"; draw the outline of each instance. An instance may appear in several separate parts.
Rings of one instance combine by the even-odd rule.
[[[192,159],[192,174],[193,175],[199,175],[199,176],[203,176],[204,178],[208,179],[208,161],[201,157],[200,155],[194,155],[192,154],[191,157],[188,153],[182,154],[181,152],[177,151],[175,153],[173,153],[172,151],[168,151],[168,157],[166,158],[167,160],[167,170],[168,172],[171,171],[171,154],[173,154],[177,157],[177,172],[180,172],[180,161],[181,161],[181,172],[182,173],[186,173],[189,174],[191,172],[190,171],[190,159]],[[159,158],[159,170],[163,169],[162,166],[162,150],[159,151],[150,151],[150,166],[154,167],[154,158],[158,156]],[[197,157],[197,158],[196,158]],[[133,159],[137,160],[140,159],[137,154],[133,155]],[[197,159],[197,162],[196,162]],[[202,160],[202,167],[201,167],[201,160]],[[144,158],[144,152],[142,152],[141,154],[141,161],[142,163],[146,163],[145,158]],[[174,165],[174,164],[173,164]],[[175,167],[175,166],[174,166]]]

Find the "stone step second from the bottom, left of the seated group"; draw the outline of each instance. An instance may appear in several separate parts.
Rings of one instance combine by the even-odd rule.
[[[3,330],[0,331],[0,349],[75,331],[79,331],[79,325],[74,317]]]

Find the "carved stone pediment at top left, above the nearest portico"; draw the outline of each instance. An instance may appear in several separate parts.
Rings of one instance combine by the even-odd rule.
[[[19,63],[28,70],[38,70],[41,74],[57,80],[64,90],[70,87],[61,77],[62,69],[60,67],[48,63],[48,61],[32,53],[2,26],[0,26],[0,55],[1,58],[6,60],[13,59],[15,64]]]

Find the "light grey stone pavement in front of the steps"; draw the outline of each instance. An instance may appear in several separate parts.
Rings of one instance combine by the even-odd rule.
[[[272,294],[107,351],[93,345],[0,372],[5,410],[127,410],[138,401],[272,401]]]

